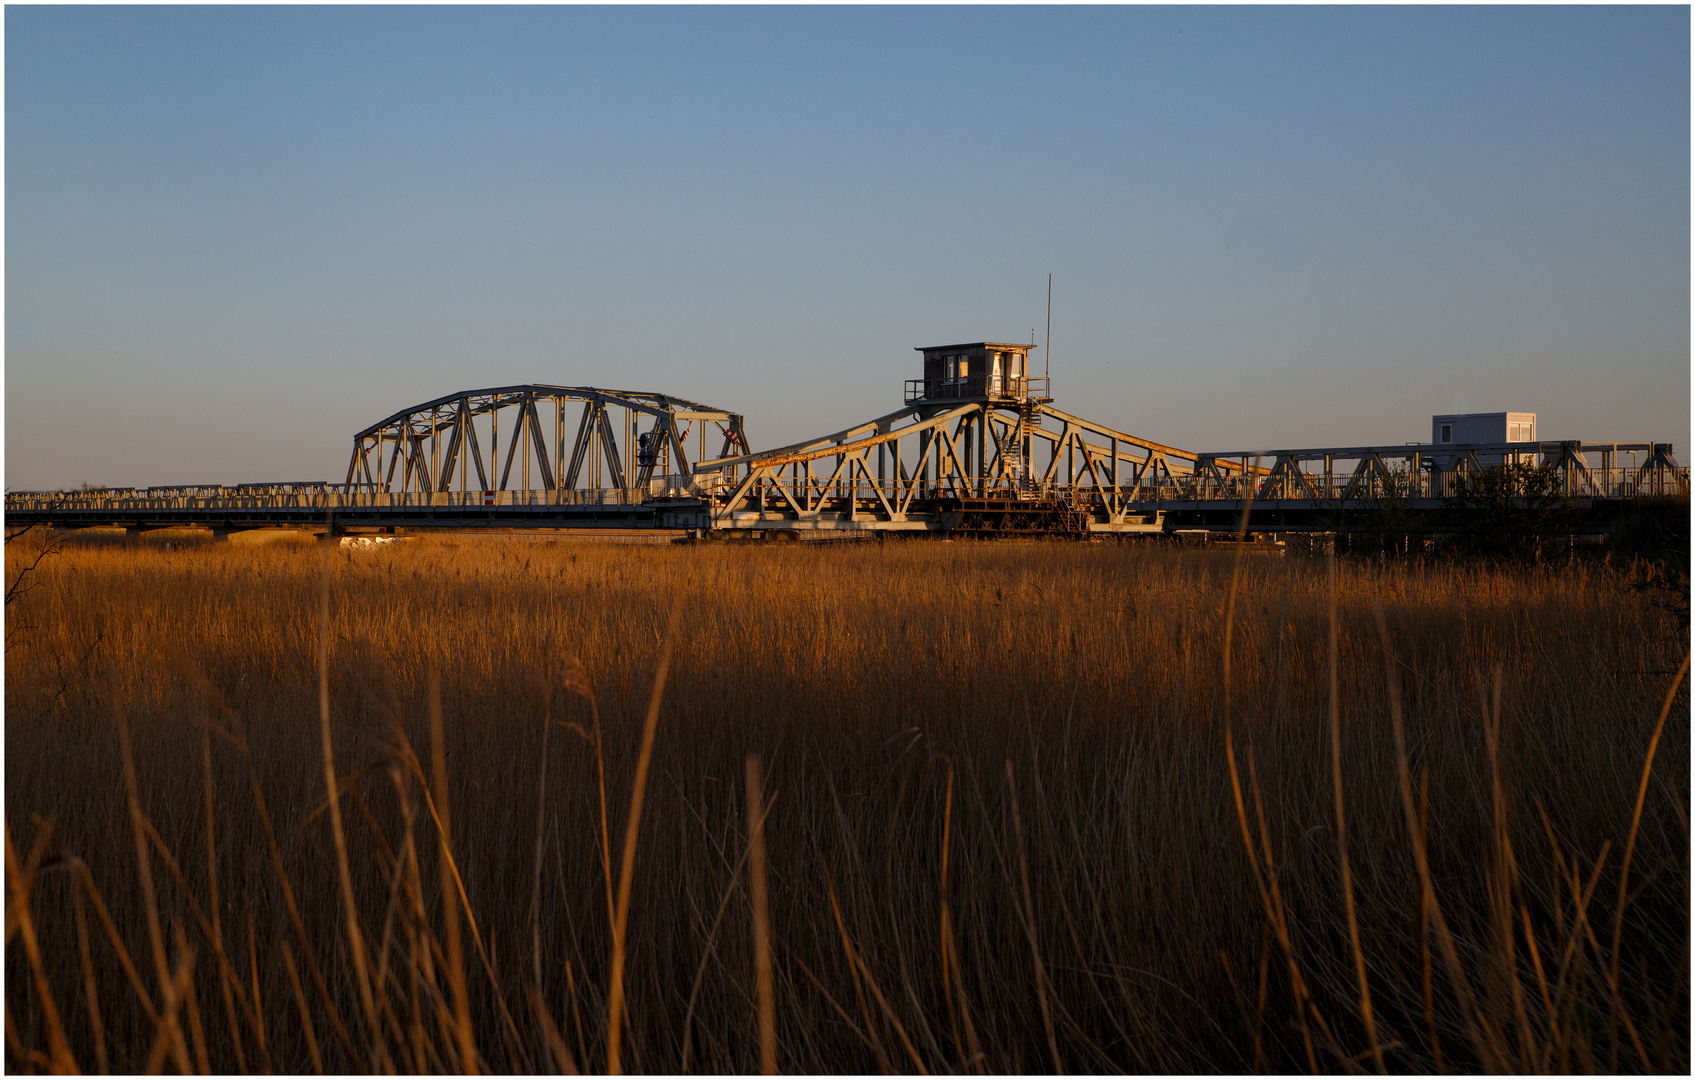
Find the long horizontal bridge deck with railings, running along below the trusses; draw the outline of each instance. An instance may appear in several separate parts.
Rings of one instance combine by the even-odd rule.
[[[1571,497],[1580,509],[1631,498],[1688,493],[1688,470],[1637,478],[1619,470]],[[1302,498],[1285,497],[1290,482],[1275,476],[1190,476],[1132,490],[1070,483],[971,487],[964,482],[824,480],[764,476],[668,478],[654,490],[520,490],[520,492],[363,492],[347,485],[195,487],[173,490],[31,492],[7,495],[7,526],[47,524],[64,529],[122,526],[132,529],[798,529],[798,531],[949,531],[959,510],[985,500],[1061,507],[1095,532],[1142,532],[1176,527],[1232,529],[1244,500],[1253,500],[1254,527],[1325,529],[1337,512],[1385,505],[1381,490],[1305,482]],[[746,488],[746,490],[742,490]],[[739,493],[739,498],[737,498]],[[1449,505],[1429,478],[1390,498],[1414,515]],[[966,526],[970,529],[970,526]]]

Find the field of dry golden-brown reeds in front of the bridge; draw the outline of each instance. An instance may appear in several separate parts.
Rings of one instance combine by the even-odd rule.
[[[29,582],[8,1070],[1690,1066],[1687,636],[1605,566],[85,539]]]

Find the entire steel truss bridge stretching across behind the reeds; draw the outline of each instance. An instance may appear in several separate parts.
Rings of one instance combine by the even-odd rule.
[[[1670,443],[1397,444],[1192,453],[993,395],[909,387],[890,414],[753,453],[742,415],[681,397],[514,385],[414,405],[353,437],[342,483],[8,492],[7,526],[246,529],[690,529],[702,537],[1146,534],[1327,529],[1397,500],[1441,509],[1500,463],[1553,471],[1602,512],[1688,495]],[[714,456],[709,456],[709,449]]]

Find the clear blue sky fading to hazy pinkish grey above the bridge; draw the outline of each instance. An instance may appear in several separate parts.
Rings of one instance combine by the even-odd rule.
[[[1690,459],[1690,14],[5,10],[5,483],[339,480],[512,381],[756,448],[1042,337],[1188,449]]]

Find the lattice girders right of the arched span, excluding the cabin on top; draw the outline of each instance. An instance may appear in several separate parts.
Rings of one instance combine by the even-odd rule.
[[[1042,420],[1056,426],[1044,427]],[[1046,468],[1032,454],[1036,443],[1046,444]],[[1600,480],[1585,463],[1585,451],[1602,454]],[[1641,466],[1617,470],[1610,463],[1619,453],[1641,453],[1644,459]],[[1020,409],[1017,402],[985,398],[914,402],[819,439],[702,461],[697,473],[746,470],[729,482],[703,485],[710,492],[702,493],[714,498],[714,519],[727,527],[756,527],[749,519],[766,521],[775,514],[819,527],[846,522],[936,529],[951,519],[937,500],[1012,490],[1025,500],[1061,497],[1071,512],[1117,529],[1131,522],[1131,514],[1146,521],[1146,510],[1158,505],[1244,500],[1341,505],[1387,495],[1439,500],[1448,490],[1446,476],[1509,458],[1544,461],[1570,495],[1619,497],[1688,485],[1687,471],[1664,443],[1398,444],[1195,454],[1093,424],[1046,402]],[[834,468],[814,473],[819,463]],[[1322,463],[1324,471],[1302,468],[1312,463]],[[1337,466],[1348,471],[1337,475]],[[1624,471],[1631,475],[1617,476]]]

